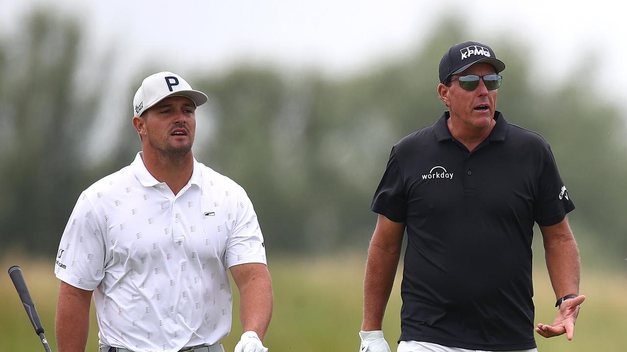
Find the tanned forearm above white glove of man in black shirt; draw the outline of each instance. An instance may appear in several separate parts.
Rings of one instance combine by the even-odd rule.
[[[386,246],[373,241],[368,249],[364,278],[363,331],[381,330],[387,301],[394,285],[400,246]]]

